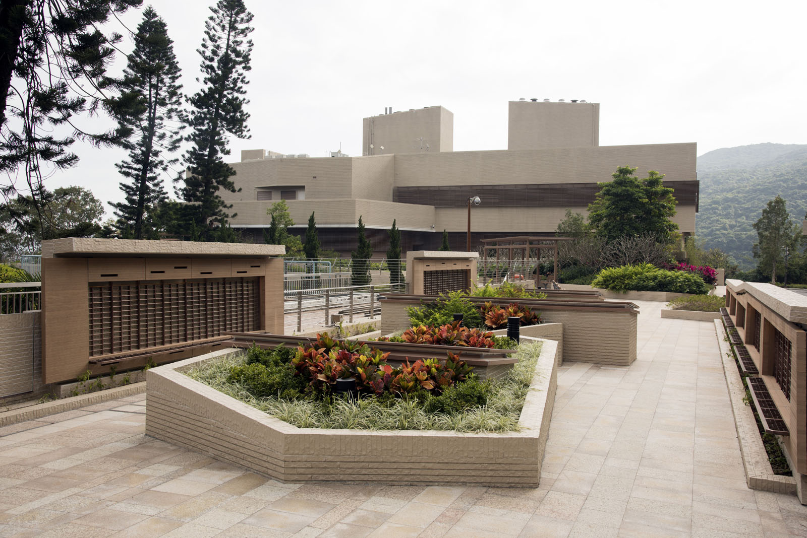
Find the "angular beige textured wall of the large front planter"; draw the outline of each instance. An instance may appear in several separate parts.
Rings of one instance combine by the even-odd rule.
[[[146,433],[282,482],[535,487],[557,387],[556,350],[544,341],[521,432],[297,428],[182,373],[228,353],[221,350],[148,370]]]

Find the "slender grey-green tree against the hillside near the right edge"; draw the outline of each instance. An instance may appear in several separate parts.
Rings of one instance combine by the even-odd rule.
[[[767,275],[770,271],[771,283],[776,283],[776,270],[784,265],[784,247],[795,251],[801,240],[801,230],[790,218],[785,201],[779,196],[767,203],[753,226],[759,238],[752,250],[754,257],[759,259],[759,272]]]

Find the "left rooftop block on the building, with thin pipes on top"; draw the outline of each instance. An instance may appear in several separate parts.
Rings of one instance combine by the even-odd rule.
[[[362,155],[437,153],[454,151],[454,114],[442,106],[427,106],[364,118]]]

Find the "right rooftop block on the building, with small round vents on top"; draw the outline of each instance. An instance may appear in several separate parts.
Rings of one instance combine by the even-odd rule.
[[[510,101],[508,150],[600,145],[600,103]]]

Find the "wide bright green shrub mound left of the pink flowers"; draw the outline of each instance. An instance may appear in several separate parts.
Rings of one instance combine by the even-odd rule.
[[[667,271],[650,263],[607,267],[592,282],[595,288],[613,292],[673,292],[705,294],[709,285],[700,276],[684,271]]]

